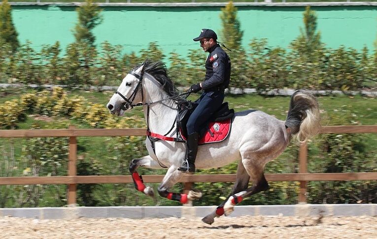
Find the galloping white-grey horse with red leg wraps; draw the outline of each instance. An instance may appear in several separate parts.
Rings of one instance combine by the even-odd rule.
[[[177,168],[185,158],[185,144],[179,141],[156,141],[151,132],[163,136],[163,139],[173,137],[177,130],[177,108],[185,100],[174,87],[165,64],[146,60],[126,75],[106,105],[110,113],[117,116],[123,116],[126,111],[137,106],[143,108],[148,128],[145,145],[149,154],[133,159],[130,163],[135,187],[146,195],[154,196],[153,188],[144,185],[137,168],[167,168],[157,191],[160,196],[182,204],[202,196],[195,190],[187,194],[169,191],[184,175]],[[218,168],[239,160],[232,192],[202,221],[212,224],[215,217],[232,213],[242,199],[269,189],[264,176],[266,163],[279,156],[292,138],[305,142],[316,135],[320,127],[319,120],[317,99],[308,90],[296,90],[293,93],[284,121],[259,110],[236,112],[232,118],[232,130],[224,141],[200,145],[198,149],[195,162],[197,169]],[[248,186],[249,181],[252,181],[251,187]]]

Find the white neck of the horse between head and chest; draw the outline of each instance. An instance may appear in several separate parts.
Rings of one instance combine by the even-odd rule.
[[[147,79],[144,81],[144,100],[146,103],[155,102],[158,100],[166,99],[169,97],[164,90],[162,90],[160,83],[158,83],[153,77],[147,75]],[[163,102],[151,104],[143,107],[144,118],[149,126],[149,129],[153,133],[166,134],[171,126],[175,123],[175,117],[177,114],[176,104],[173,100],[168,99]]]

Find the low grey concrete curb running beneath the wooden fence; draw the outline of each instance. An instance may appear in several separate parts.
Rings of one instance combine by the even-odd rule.
[[[68,207],[0,209],[0,216],[38,219],[204,217],[215,206]],[[377,216],[377,204],[298,204],[236,206],[237,216]]]

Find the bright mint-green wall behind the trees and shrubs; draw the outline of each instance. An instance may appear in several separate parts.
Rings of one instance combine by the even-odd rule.
[[[104,21],[94,30],[97,43],[120,44],[125,52],[138,52],[157,41],[164,53],[186,56],[200,46],[192,38],[202,28],[218,34],[221,30],[219,6],[137,7],[105,6]],[[376,6],[317,6],[318,29],[322,41],[331,48],[340,45],[373,48],[377,37]],[[244,30],[243,45],[250,39],[268,38],[270,46],[287,47],[303,27],[305,6],[239,6],[238,17]],[[12,16],[22,43],[30,40],[37,50],[43,44],[60,41],[64,49],[74,41],[71,30],[77,21],[74,6],[12,6]],[[221,41],[221,38],[219,39]]]

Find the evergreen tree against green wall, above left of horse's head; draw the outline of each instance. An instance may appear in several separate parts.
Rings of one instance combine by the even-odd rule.
[[[101,9],[93,3],[93,0],[86,0],[85,4],[78,7],[76,11],[78,14],[78,23],[73,31],[76,42],[84,42],[94,46],[96,37],[91,30],[103,21]]]

